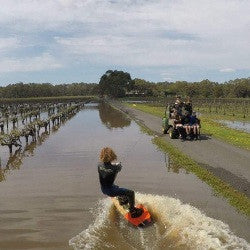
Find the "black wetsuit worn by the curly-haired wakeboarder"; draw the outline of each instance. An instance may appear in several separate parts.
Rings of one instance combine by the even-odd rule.
[[[114,185],[114,181],[118,172],[121,171],[121,164],[112,164],[110,162],[99,163],[98,173],[101,184],[101,190],[104,194],[115,197],[115,196],[126,196],[129,201],[130,209],[134,208],[135,205],[135,193],[133,190],[126,188],[120,188]]]

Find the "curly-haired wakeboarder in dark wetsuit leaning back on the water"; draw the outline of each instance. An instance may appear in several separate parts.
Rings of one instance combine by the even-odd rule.
[[[101,190],[105,195],[118,197],[121,205],[128,203],[131,217],[139,217],[143,211],[142,209],[135,207],[135,192],[133,190],[114,185],[117,173],[122,169],[121,163],[113,163],[116,159],[117,156],[111,148],[105,147],[101,150],[101,162],[98,164]]]

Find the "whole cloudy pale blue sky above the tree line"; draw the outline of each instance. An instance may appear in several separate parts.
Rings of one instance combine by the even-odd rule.
[[[0,0],[0,85],[250,76],[249,0]]]

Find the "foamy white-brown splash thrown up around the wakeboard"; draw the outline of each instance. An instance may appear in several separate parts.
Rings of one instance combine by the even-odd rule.
[[[130,226],[109,198],[99,202],[93,224],[69,241],[74,249],[250,249],[222,221],[167,196],[136,194],[152,214],[145,229]]]

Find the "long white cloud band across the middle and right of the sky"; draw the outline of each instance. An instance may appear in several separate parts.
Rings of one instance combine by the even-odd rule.
[[[172,40],[158,37],[89,36],[56,39],[62,51],[77,60],[125,66],[190,65],[206,68],[249,67],[247,54],[199,40]],[[213,51],[214,50],[214,51]]]

